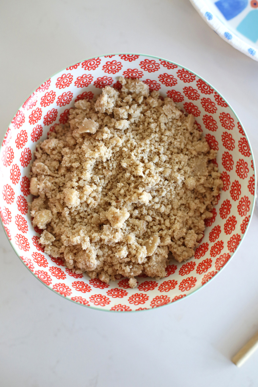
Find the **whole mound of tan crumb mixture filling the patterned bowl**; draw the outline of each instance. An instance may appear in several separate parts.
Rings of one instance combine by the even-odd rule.
[[[193,256],[222,182],[192,115],[138,79],[120,82],[77,101],[37,145],[31,216],[44,251],[69,269],[135,287]]]

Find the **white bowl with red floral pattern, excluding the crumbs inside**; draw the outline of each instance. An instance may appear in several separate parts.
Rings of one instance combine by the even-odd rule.
[[[131,289],[127,279],[109,285],[74,274],[62,259],[49,257],[31,225],[28,202],[33,151],[55,125],[65,123],[79,99],[92,99],[101,88],[119,88],[120,76],[140,78],[150,90],[169,96],[196,123],[222,173],[223,188],[195,256],[167,266],[160,280],[140,276]],[[134,311],[160,307],[190,295],[227,264],[247,231],[255,204],[253,154],[236,114],[205,80],[176,63],[148,55],[115,54],[76,63],[43,82],[15,114],[0,149],[0,215],[12,247],[29,271],[59,295],[91,308]]]

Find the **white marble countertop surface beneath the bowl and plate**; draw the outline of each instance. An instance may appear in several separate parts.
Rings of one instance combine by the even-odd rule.
[[[258,160],[258,63],[232,48],[188,0],[3,0],[0,135],[32,90],[84,58],[156,55],[190,68],[236,111]],[[47,289],[0,229],[2,387],[258,386],[258,352],[231,356],[258,330],[258,211],[232,261],[179,303],[114,314]]]

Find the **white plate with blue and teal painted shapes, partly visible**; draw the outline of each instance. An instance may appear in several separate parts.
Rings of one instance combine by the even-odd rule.
[[[219,36],[258,60],[258,0],[190,0]]]

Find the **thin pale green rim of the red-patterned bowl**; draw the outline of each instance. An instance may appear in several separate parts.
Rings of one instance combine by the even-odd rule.
[[[191,1],[191,0],[190,0],[190,1]],[[183,66],[183,65],[180,65],[179,63],[173,62],[172,60],[168,60],[168,59],[161,58],[161,57],[156,57],[155,55],[149,55],[149,54],[132,53],[132,52],[120,52],[120,53],[109,53],[109,54],[103,54],[103,55],[95,55],[94,57],[84,58],[83,60],[85,61],[85,60],[90,60],[90,59],[94,59],[94,58],[107,57],[107,56],[109,56],[109,55],[139,55],[139,56],[154,58],[154,59],[157,59],[157,60],[164,60],[164,61],[166,61],[166,62],[173,63],[174,65],[179,66],[179,67],[181,67],[181,68],[185,68],[186,70],[190,71],[192,74],[196,75],[198,78],[202,79],[205,83],[207,83],[210,87],[212,87],[212,89],[214,89],[214,91],[217,92],[217,93],[219,94],[220,97],[222,97],[222,98],[224,99],[224,101],[227,103],[228,107],[231,109],[231,111],[232,111],[232,112],[234,113],[234,115],[236,116],[237,120],[238,120],[239,123],[241,124],[241,127],[243,128],[244,134],[245,134],[245,136],[246,136],[246,140],[247,140],[248,145],[249,145],[249,148],[250,148],[251,156],[252,156],[252,159],[253,159],[253,167],[254,167],[254,175],[255,175],[255,195],[254,195],[254,197],[253,197],[253,204],[252,204],[252,209],[251,209],[251,214],[250,214],[250,219],[249,219],[248,225],[247,225],[247,227],[246,227],[246,230],[245,230],[245,232],[244,232],[244,234],[243,234],[243,236],[242,236],[242,238],[241,238],[241,240],[240,240],[240,243],[239,243],[239,245],[237,246],[236,250],[232,253],[230,259],[226,262],[226,264],[225,264],[223,267],[221,267],[221,269],[217,272],[217,274],[215,274],[208,282],[206,282],[205,284],[203,284],[203,285],[200,286],[199,288],[193,290],[191,293],[188,293],[185,297],[178,298],[178,300],[173,301],[173,302],[171,302],[171,303],[168,303],[168,304],[165,304],[165,305],[161,305],[161,306],[159,306],[158,308],[156,307],[156,308],[149,308],[149,309],[146,309],[147,311],[148,311],[148,310],[155,310],[155,309],[160,309],[160,308],[166,307],[167,305],[171,305],[171,304],[177,303],[178,301],[181,301],[181,300],[183,300],[183,299],[185,299],[185,298],[187,298],[187,297],[193,295],[193,294],[196,293],[198,290],[204,288],[204,286],[206,286],[206,285],[207,285],[208,283],[210,283],[215,277],[217,277],[217,275],[219,274],[219,272],[221,272],[222,269],[224,269],[224,267],[226,267],[226,266],[229,264],[229,262],[232,260],[233,256],[235,255],[235,253],[236,253],[237,250],[239,249],[239,247],[240,247],[240,245],[241,245],[241,243],[242,243],[244,237],[246,236],[246,233],[247,233],[247,231],[248,231],[248,229],[249,229],[249,225],[250,225],[250,223],[251,223],[251,219],[252,219],[253,212],[254,212],[254,209],[255,209],[256,190],[257,190],[257,187],[256,187],[257,182],[256,182],[255,159],[254,159],[253,150],[252,150],[251,144],[250,144],[250,142],[249,142],[248,136],[247,136],[247,134],[246,134],[246,131],[245,131],[245,129],[244,129],[244,127],[243,127],[241,121],[239,120],[239,117],[237,116],[236,112],[235,112],[234,109],[232,108],[231,104],[229,104],[228,101],[220,94],[220,92],[217,91],[217,89],[216,89],[214,86],[212,86],[209,82],[207,82],[207,80],[205,80],[203,77],[201,77],[200,75],[196,74],[194,71],[190,70],[188,67],[185,67],[185,66]],[[44,83],[46,80],[52,78],[54,75],[56,75],[56,74],[62,72],[62,71],[65,70],[67,67],[73,66],[73,65],[75,65],[75,64],[77,64],[77,63],[80,63],[80,62],[82,62],[82,61],[74,62],[74,63],[72,63],[72,64],[70,64],[70,65],[68,65],[68,66],[66,66],[66,67],[64,67],[64,68],[62,68],[61,70],[59,70],[59,71],[55,72],[54,74],[52,74],[50,77],[46,78],[43,82],[41,82],[41,84]],[[35,92],[36,89],[37,89],[41,84],[39,84],[37,87],[35,87],[35,89],[34,89],[34,90],[26,97],[26,99],[24,99],[24,101],[22,102],[22,104],[19,106],[18,110],[20,110],[20,109],[22,108],[22,105],[23,105],[24,102],[27,100],[27,98],[29,98],[29,96],[31,96],[31,94],[32,94],[33,92]],[[17,111],[18,111],[18,110],[17,110]],[[16,114],[16,113],[15,113],[15,114]],[[13,119],[13,118],[12,118],[12,119]],[[12,120],[11,120],[11,121],[12,121]],[[10,124],[11,124],[11,121],[10,121],[10,123],[9,123],[9,125],[8,125],[8,128],[9,128],[9,126],[10,126]],[[8,129],[8,128],[7,128],[7,129]],[[3,146],[2,146],[2,142],[3,142],[3,139],[4,139],[4,137],[5,137],[6,132],[7,132],[7,130],[5,131],[5,133],[4,133],[4,135],[3,135],[3,138],[2,138],[2,141],[1,141],[1,143],[0,143],[0,152],[1,152],[1,149],[2,149],[2,147],[3,147]],[[5,231],[5,228],[4,228],[3,221],[2,221],[2,218],[1,218],[1,217],[0,217],[0,221],[1,221],[1,224],[2,224],[2,227],[3,227],[3,230],[4,230],[4,232],[5,232],[5,235],[7,236],[7,239],[9,240],[10,245],[12,246],[13,250],[15,251],[16,255],[19,257],[19,259],[21,260],[21,262],[22,262],[22,263],[24,264],[24,266],[27,268],[27,270],[28,270],[31,274],[33,274],[33,276],[36,277],[36,279],[38,279],[38,281],[39,281],[41,284],[43,284],[44,286],[46,286],[48,289],[50,289],[51,291],[53,291],[55,294],[61,296],[62,298],[65,298],[65,300],[71,301],[71,302],[73,302],[73,303],[75,303],[75,304],[77,304],[77,305],[79,304],[79,305],[81,305],[81,306],[83,306],[83,307],[86,307],[86,308],[89,308],[89,309],[99,310],[99,311],[101,311],[101,312],[111,312],[111,313],[128,313],[128,312],[130,312],[130,313],[136,312],[136,313],[137,313],[137,312],[145,312],[145,310],[130,310],[130,311],[126,311],[126,310],[108,310],[108,309],[98,308],[98,307],[95,307],[95,306],[92,306],[92,305],[84,305],[84,304],[80,304],[80,303],[78,303],[78,302],[76,302],[76,301],[74,301],[74,300],[71,300],[70,298],[67,298],[66,296],[63,296],[63,295],[61,295],[60,293],[58,293],[57,291],[53,290],[52,288],[50,288],[49,285],[45,284],[45,283],[42,282],[37,276],[35,276],[34,272],[32,272],[32,271],[29,269],[29,267],[25,264],[25,262],[21,259],[21,257],[20,257],[20,255],[19,255],[18,251],[16,250],[16,245],[14,245],[13,241],[9,239],[9,237],[8,237],[8,235],[7,235],[7,232]]]

